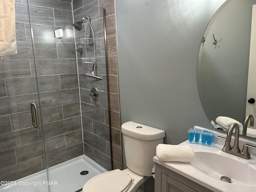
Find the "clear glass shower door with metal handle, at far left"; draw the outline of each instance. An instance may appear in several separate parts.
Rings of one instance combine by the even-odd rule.
[[[42,123],[31,107],[40,114],[28,10],[15,1],[18,54],[0,56],[0,191],[49,190]]]

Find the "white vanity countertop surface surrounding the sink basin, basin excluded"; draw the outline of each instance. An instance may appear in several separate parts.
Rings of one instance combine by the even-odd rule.
[[[196,128],[200,128],[198,126],[196,126]],[[204,129],[204,128],[200,128],[200,129]],[[218,153],[224,156],[229,156],[232,157],[244,164],[250,165],[251,168],[254,168],[256,170],[256,157],[252,156],[255,154],[255,150],[254,152],[252,152],[253,154],[251,154],[251,158],[249,160],[243,159],[243,158],[239,158],[237,156],[234,155],[230,155],[227,153],[222,152],[222,147],[224,146],[224,140],[218,139],[217,136],[222,136],[222,137],[226,137],[225,134],[219,133],[219,132],[214,132],[214,140],[213,140],[213,144],[211,146],[207,146],[207,145],[202,145],[202,144],[195,144],[195,143],[189,143],[188,140],[185,142],[182,142],[180,145],[185,145],[188,144],[190,145],[194,152],[197,151],[206,151],[206,152],[213,152],[213,153]],[[234,139],[232,139],[233,141]],[[241,138],[241,144],[243,143],[248,143],[251,145],[256,145],[254,142],[250,142],[250,141],[246,141],[245,139]],[[231,146],[233,146],[233,144],[231,143]],[[240,147],[240,149],[242,150],[242,148]],[[250,152],[250,150],[249,150]],[[251,187],[251,186],[238,186],[232,183],[228,183],[228,182],[224,182],[222,180],[218,180],[215,178],[212,178],[210,176],[208,176],[207,174],[201,172],[200,170],[198,170],[197,168],[195,168],[194,166],[192,166],[192,164],[190,163],[181,163],[181,162],[160,162],[158,160],[158,158],[155,156],[153,158],[153,161],[214,191],[214,192],[256,192],[256,186]],[[220,162],[220,163],[228,163],[228,162]],[[234,168],[235,169],[235,168]],[[256,178],[255,178],[255,183],[256,183]],[[255,184],[256,185],[256,184]]]

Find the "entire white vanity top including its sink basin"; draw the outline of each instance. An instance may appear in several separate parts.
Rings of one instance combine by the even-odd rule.
[[[204,130],[199,126],[194,128]],[[201,145],[200,142],[190,143],[188,140],[180,143],[192,147],[196,156],[193,162],[162,162],[157,156],[153,160],[156,164],[214,192],[256,192],[256,150],[249,149],[250,159],[225,153],[222,151],[225,141],[218,136],[226,137],[226,133],[213,132],[214,138],[210,146]],[[233,143],[234,138],[231,146]],[[239,144],[241,149],[244,144],[255,146],[255,141],[241,137]]]

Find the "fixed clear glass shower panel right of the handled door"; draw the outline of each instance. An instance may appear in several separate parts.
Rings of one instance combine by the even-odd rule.
[[[45,141],[50,190],[74,192],[86,182],[80,177],[79,184],[73,182],[84,168],[67,171],[69,162],[85,154],[106,170],[112,168],[104,10],[81,5],[72,11],[72,3],[62,0],[28,0],[28,5],[39,91],[36,104],[42,121],[38,134]],[[80,20],[86,16],[91,16],[95,30],[95,74],[101,80],[86,76],[93,66],[82,63],[81,58],[94,56],[93,44],[80,44],[86,22],[79,33],[73,28],[73,17]],[[92,87],[98,89],[98,100],[90,96]]]

